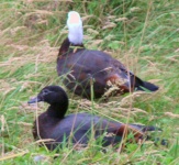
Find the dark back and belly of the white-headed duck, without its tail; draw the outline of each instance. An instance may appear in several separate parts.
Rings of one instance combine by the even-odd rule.
[[[107,81],[122,79],[127,86],[128,76],[125,67],[116,59],[101,51],[78,50],[58,57],[58,75],[68,75],[65,85],[75,89],[75,94],[90,96],[90,80],[93,79],[94,96],[101,97],[107,88]],[[78,82],[78,84],[77,84]],[[80,82],[80,85],[79,85]]]

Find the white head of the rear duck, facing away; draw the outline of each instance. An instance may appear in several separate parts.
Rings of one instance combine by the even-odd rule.
[[[78,12],[76,11],[68,12],[67,26],[69,30],[68,32],[69,42],[75,45],[82,44],[83,29],[82,21]]]

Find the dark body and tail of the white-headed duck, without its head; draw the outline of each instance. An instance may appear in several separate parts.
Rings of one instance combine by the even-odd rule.
[[[61,47],[70,45],[67,38]],[[144,90],[144,88],[156,91],[157,86],[141,80],[138,77],[127,72],[125,66],[119,61],[112,58],[109,54],[101,51],[86,50],[82,45],[72,50],[66,47],[66,51],[59,51],[57,58],[57,73],[59,76],[66,75],[65,86],[76,95],[86,98],[91,97],[91,81],[93,85],[94,98],[100,98],[110,86],[115,84],[119,87],[119,94],[128,91]],[[65,48],[63,48],[65,50]]]

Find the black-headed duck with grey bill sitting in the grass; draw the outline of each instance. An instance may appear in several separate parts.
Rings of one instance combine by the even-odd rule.
[[[124,124],[89,113],[65,116],[68,97],[59,86],[43,88],[29,103],[40,101],[49,103],[49,107],[34,122],[33,136],[35,140],[51,140],[44,142],[48,150],[55,150],[68,142],[72,145],[87,146],[91,135],[97,141],[102,138],[100,143],[102,146],[115,146],[122,138],[128,138],[128,134],[133,135],[126,139],[127,142],[141,142],[145,140],[145,132],[157,130],[155,127]]]

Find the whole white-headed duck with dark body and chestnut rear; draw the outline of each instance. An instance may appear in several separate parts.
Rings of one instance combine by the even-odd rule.
[[[65,77],[63,82],[70,91],[87,99],[98,99],[105,97],[112,86],[118,87],[112,95],[158,90],[158,86],[142,80],[110,54],[87,50],[82,43],[83,28],[78,12],[68,12],[67,26],[68,36],[59,47],[56,69],[58,76]]]

